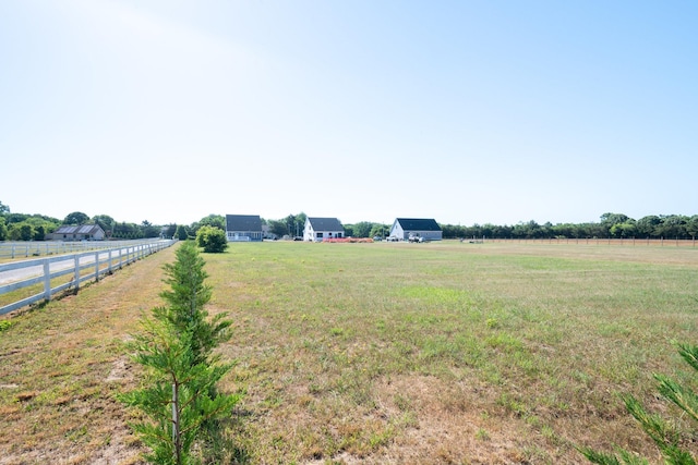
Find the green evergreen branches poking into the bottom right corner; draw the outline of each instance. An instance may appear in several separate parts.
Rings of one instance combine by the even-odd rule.
[[[698,346],[678,344],[681,357],[698,372]],[[654,375],[658,381],[660,394],[678,408],[681,408],[694,421],[698,421],[698,395],[690,389],[679,384],[675,380],[664,376]],[[661,416],[648,413],[642,404],[631,394],[621,395],[627,411],[640,424],[642,430],[654,441],[659,448],[664,463],[672,465],[696,465],[695,457],[682,446],[681,435]],[[598,452],[591,448],[578,448],[590,462],[600,465],[637,465],[648,464],[649,461],[628,452],[623,448],[616,448],[618,456],[613,453]]]

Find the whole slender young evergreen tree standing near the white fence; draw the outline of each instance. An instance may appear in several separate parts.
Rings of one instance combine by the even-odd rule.
[[[169,305],[154,308],[142,321],[143,333],[129,343],[133,359],[146,368],[145,387],[119,399],[146,416],[132,425],[152,450],[146,460],[186,465],[193,463],[191,448],[204,426],[232,409],[240,397],[215,389],[231,366],[220,364],[212,352],[229,339],[230,321],[224,315],[207,320],[205,262],[191,242],[176,255],[174,264],[164,267],[171,291],[160,295]]]

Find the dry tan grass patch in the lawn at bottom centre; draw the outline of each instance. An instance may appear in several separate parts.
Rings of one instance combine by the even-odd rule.
[[[503,416],[483,386],[448,383],[431,376],[401,376],[376,384],[387,417],[405,430],[371,463],[525,463],[519,425]],[[399,423],[398,421],[398,423]]]

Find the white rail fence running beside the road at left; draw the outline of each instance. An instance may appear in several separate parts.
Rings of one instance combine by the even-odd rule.
[[[50,301],[59,292],[80,287],[85,281],[99,281],[100,277],[110,274],[133,261],[140,260],[174,244],[176,241],[149,241],[133,243],[124,241],[110,248],[94,252],[61,255],[50,258],[11,261],[0,265],[0,296],[27,290],[28,293],[40,292],[27,297],[3,298],[0,315],[8,314],[39,301]],[[9,303],[7,303],[10,301]]]

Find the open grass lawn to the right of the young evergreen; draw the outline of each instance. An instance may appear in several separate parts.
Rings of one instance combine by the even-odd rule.
[[[253,462],[647,450],[614,394],[653,402],[651,372],[683,368],[671,341],[696,342],[695,249],[264,243],[206,260]]]

